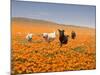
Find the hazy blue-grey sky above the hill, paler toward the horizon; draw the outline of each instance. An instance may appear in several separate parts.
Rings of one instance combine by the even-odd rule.
[[[95,27],[96,7],[12,0],[12,17],[41,19],[66,25]]]

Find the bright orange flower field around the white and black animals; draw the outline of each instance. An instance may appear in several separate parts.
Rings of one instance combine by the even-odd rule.
[[[57,29],[64,29],[65,35],[69,35],[68,43],[62,47]],[[71,39],[73,30],[75,39]],[[57,37],[46,42],[41,34],[53,31]],[[27,33],[34,34],[31,42],[25,39]],[[12,20],[11,43],[13,75],[96,69],[95,28],[17,18]]]

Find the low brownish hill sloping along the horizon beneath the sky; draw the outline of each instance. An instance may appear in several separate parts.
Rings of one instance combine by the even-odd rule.
[[[39,20],[39,19],[30,19],[30,18],[24,18],[24,17],[13,17],[12,22],[17,22],[17,23],[26,23],[28,25],[31,24],[36,24],[36,25],[55,25],[55,26],[62,26],[62,27],[75,27],[75,28],[89,28],[89,27],[81,27],[81,26],[75,26],[75,25],[65,25],[65,24],[58,24],[55,22],[51,21],[45,21],[45,20]]]

